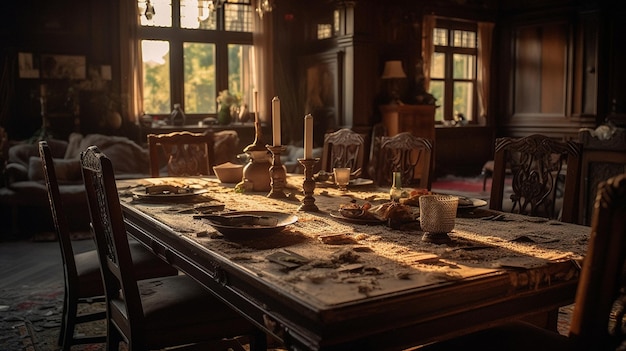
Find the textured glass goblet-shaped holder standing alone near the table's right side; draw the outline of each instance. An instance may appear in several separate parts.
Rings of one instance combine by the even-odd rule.
[[[454,229],[459,198],[452,195],[422,195],[419,198],[422,240],[442,243],[450,241]]]

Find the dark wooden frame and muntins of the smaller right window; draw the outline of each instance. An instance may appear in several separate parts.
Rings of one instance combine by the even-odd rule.
[[[478,124],[478,114],[479,114],[479,101],[478,101],[478,24],[476,22],[470,21],[462,21],[462,20],[454,20],[454,19],[443,19],[437,18],[434,29],[446,29],[448,33],[448,45],[435,45],[435,40],[433,38],[433,57],[431,58],[431,62],[434,62],[434,55],[443,53],[445,56],[445,64],[444,64],[444,78],[433,78],[430,76],[430,84],[432,87],[433,82],[443,82],[444,85],[444,101],[443,105],[440,107],[442,109],[442,120],[436,120],[436,123],[439,124],[447,124],[455,121],[454,115],[454,99],[451,98],[454,96],[454,83],[455,82],[469,82],[472,84],[472,111],[471,116],[472,119],[467,120],[468,124]],[[476,36],[476,47],[474,48],[466,48],[466,47],[457,47],[453,46],[453,31],[461,30],[461,31],[469,31],[473,32]],[[435,31],[433,30],[433,36],[435,35]],[[454,78],[454,54],[462,54],[462,55],[471,55],[474,57],[474,72],[472,79],[462,79],[462,78]],[[431,69],[432,69],[431,63]],[[432,93],[432,90],[430,91]],[[469,116],[465,116],[468,118]]]

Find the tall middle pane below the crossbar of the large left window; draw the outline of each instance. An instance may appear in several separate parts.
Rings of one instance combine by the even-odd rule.
[[[185,112],[215,113],[215,45],[184,43]]]

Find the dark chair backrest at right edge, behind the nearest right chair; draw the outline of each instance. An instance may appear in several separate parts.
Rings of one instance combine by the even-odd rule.
[[[609,128],[608,126],[604,126]],[[626,130],[609,129],[611,136],[600,138],[588,129],[578,133],[583,145],[580,167],[578,223],[591,224],[593,201],[600,182],[626,172]]]

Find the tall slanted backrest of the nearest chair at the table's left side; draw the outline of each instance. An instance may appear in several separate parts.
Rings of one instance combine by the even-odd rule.
[[[80,161],[102,269],[108,318],[123,335],[143,340],[141,329],[135,330],[134,327],[143,324],[144,317],[113,165],[97,146],[83,151]]]

